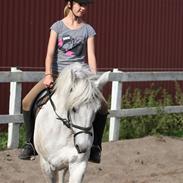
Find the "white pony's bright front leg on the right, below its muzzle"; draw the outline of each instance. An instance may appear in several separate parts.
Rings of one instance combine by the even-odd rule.
[[[69,165],[69,183],[82,183],[88,161],[77,162]]]

